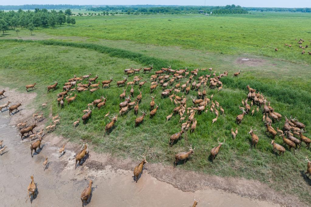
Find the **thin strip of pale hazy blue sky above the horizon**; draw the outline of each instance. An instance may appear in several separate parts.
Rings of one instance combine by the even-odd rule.
[[[204,0],[0,0],[0,5],[23,4],[79,4],[79,5],[204,5]],[[227,4],[242,7],[311,7],[311,0],[206,0],[209,6],[225,6]]]

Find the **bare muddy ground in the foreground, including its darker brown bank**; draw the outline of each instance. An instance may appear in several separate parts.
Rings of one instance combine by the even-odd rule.
[[[1,87],[0,87],[1,88]],[[21,140],[16,124],[30,122],[35,112],[30,109],[35,92],[18,93],[6,88],[7,101],[24,100],[20,111],[9,116],[0,112],[0,140],[7,146],[0,157],[2,206],[81,206],[81,192],[88,185],[85,175],[97,175],[91,202],[87,206],[306,206],[293,196],[284,196],[257,181],[220,178],[162,164],[146,164],[138,182],[133,182],[132,170],[137,160],[120,160],[109,154],[92,152],[82,166],[74,168],[74,157],[80,151],[75,143],[56,134],[44,135],[42,151],[30,155],[30,142]],[[44,128],[44,121],[36,130]],[[35,142],[31,141],[31,142]],[[58,150],[66,144],[66,153],[58,157]],[[43,169],[45,157],[49,168]],[[27,187],[34,175],[38,195],[30,204]],[[277,203],[277,204],[276,204]],[[281,204],[281,205],[279,205]]]

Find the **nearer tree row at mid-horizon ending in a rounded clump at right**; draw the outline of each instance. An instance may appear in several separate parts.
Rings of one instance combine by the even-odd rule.
[[[89,11],[121,11],[123,14],[190,14],[198,13],[199,10],[205,13],[215,14],[247,14],[248,11],[243,7],[233,5],[227,5],[225,7],[220,6],[166,6],[166,7],[128,7],[128,6],[105,6],[105,7],[90,7]]]

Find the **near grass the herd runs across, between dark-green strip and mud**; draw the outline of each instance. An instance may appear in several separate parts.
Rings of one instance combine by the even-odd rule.
[[[256,79],[252,67],[246,67],[238,78],[233,78],[234,70],[230,69],[229,77],[222,79],[224,82],[222,91],[218,93],[208,89],[208,95],[214,94],[213,99],[217,100],[225,109],[225,116],[221,115],[216,123],[211,124],[211,120],[215,118],[211,112],[196,115],[198,124],[195,132],[184,134],[179,142],[173,147],[169,147],[169,136],[179,131],[179,117],[174,116],[169,122],[165,122],[165,117],[171,113],[175,106],[168,98],[161,99],[161,89],[157,88],[153,95],[156,95],[156,103],[160,103],[160,107],[156,116],[153,119],[149,118],[150,83],[146,83],[143,87],[143,98],[139,107],[147,109],[147,116],[139,127],[134,126],[136,116],[133,114],[133,110],[130,110],[128,114],[118,117],[116,127],[104,137],[104,126],[109,120],[103,117],[108,111],[118,113],[120,102],[118,95],[122,92],[122,87],[117,88],[115,81],[122,79],[123,69],[144,67],[151,63],[149,61],[154,61],[156,68],[168,63],[174,67],[182,67],[185,64],[184,61],[176,60],[177,58],[175,59],[174,56],[169,56],[169,60],[165,60],[95,44],[57,41],[1,41],[0,50],[1,83],[12,88],[17,87],[22,92],[25,92],[24,85],[38,83],[38,89],[34,91],[38,93],[37,107],[45,101],[51,101],[49,105],[52,106],[53,115],[59,113],[62,120],[56,133],[62,134],[64,137],[76,141],[79,139],[92,141],[98,151],[111,152],[114,155],[133,159],[137,154],[148,149],[148,161],[168,165],[173,164],[176,153],[187,150],[186,146],[193,144],[196,146],[195,153],[186,164],[179,165],[177,168],[219,176],[255,179],[267,183],[276,190],[297,195],[301,199],[310,198],[310,182],[304,180],[301,175],[301,172],[306,169],[304,157],[311,155],[310,150],[304,148],[304,144],[299,151],[296,151],[296,155],[287,150],[284,157],[280,157],[272,153],[271,139],[264,132],[261,113],[256,113],[253,117],[246,115],[240,126],[235,124],[235,117],[240,113],[237,106],[241,105],[241,99],[245,99],[247,96],[245,86],[251,83],[252,87],[258,88],[267,96],[277,112],[283,116],[293,115],[305,123],[308,132],[306,135],[310,137],[311,110],[308,82],[300,83],[298,88],[294,88],[294,83],[287,82],[287,77],[279,73],[271,73],[269,77]],[[200,64],[201,62],[195,62],[192,64],[192,68],[202,66]],[[217,68],[217,71],[225,70],[221,63],[214,62],[213,64],[215,67],[220,66],[221,69]],[[287,63],[285,62],[285,64]],[[283,70],[281,68],[281,71]],[[300,72],[306,74],[301,78],[307,80],[310,75],[307,68],[302,67]],[[90,92],[78,93],[75,102],[69,106],[65,103],[65,108],[60,110],[55,97],[61,91],[62,83],[67,82],[67,79],[71,78],[73,74],[88,73],[99,74],[100,81],[113,76],[114,82],[109,89],[99,89],[93,94]],[[199,75],[206,73],[200,72]],[[16,77],[16,74],[20,76]],[[149,74],[141,73],[140,75],[149,80]],[[275,78],[278,80],[273,80]],[[131,79],[130,77],[129,80]],[[59,81],[58,90],[46,93],[45,87],[52,84],[53,80]],[[284,88],[286,83],[287,88]],[[129,93],[129,88],[127,93]],[[135,86],[134,96],[136,97],[137,94],[138,90]],[[187,97],[195,94],[196,92],[191,91]],[[106,106],[101,110],[94,109],[87,124],[84,125],[81,122],[74,129],[72,123],[77,118],[81,118],[82,110],[86,109],[88,103],[101,95],[107,96]],[[181,96],[182,93],[179,95]],[[190,98],[187,101],[187,106],[192,106]],[[45,110],[45,115],[48,114],[49,110]],[[283,124],[284,119],[280,123],[273,124],[273,127],[282,128]],[[251,126],[258,128],[259,143],[256,149],[250,147],[248,131]],[[230,137],[230,128],[235,127],[239,128],[239,133],[233,140]],[[226,143],[222,146],[214,163],[211,163],[208,160],[209,151],[217,145],[218,137],[220,140],[226,139]],[[276,142],[282,143],[281,138],[277,137]]]

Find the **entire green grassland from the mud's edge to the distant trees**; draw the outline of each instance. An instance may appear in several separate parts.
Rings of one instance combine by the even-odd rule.
[[[0,41],[0,82],[20,91],[25,91],[26,84],[38,83],[38,89],[35,90],[38,93],[37,107],[45,101],[51,101],[53,115],[59,113],[62,119],[56,133],[72,140],[82,138],[92,141],[98,151],[134,159],[148,148],[148,161],[172,165],[174,155],[187,150],[186,146],[192,143],[196,146],[195,153],[185,165],[179,165],[178,168],[255,179],[276,190],[310,199],[311,182],[302,175],[306,169],[304,157],[311,156],[310,150],[306,150],[303,144],[296,155],[288,150],[284,157],[273,154],[271,139],[265,134],[261,121],[262,113],[255,113],[253,117],[245,116],[240,126],[234,122],[241,112],[238,106],[242,98],[247,97],[246,85],[250,84],[267,96],[277,112],[283,116],[298,117],[307,126],[306,136],[311,136],[311,74],[308,65],[311,58],[306,54],[301,55],[300,49],[294,44],[295,38],[304,38],[306,42],[310,39],[308,32],[311,31],[305,29],[308,20],[309,14],[290,13],[289,16],[289,13],[259,12],[254,15],[210,17],[77,17],[74,27],[39,29],[35,30],[34,36],[27,34],[29,31],[25,29],[20,34],[22,38],[63,41]],[[1,36],[0,39],[16,36],[13,31],[6,34],[10,35]],[[295,47],[283,47],[284,42],[292,43]],[[280,50],[274,52],[275,47]],[[253,62],[241,64],[241,57],[250,57]],[[116,127],[104,137],[104,126],[109,122],[103,118],[104,115],[108,111],[117,113],[119,109],[118,95],[122,87],[117,88],[115,81],[122,79],[124,69],[145,67],[151,63],[156,70],[167,65],[172,65],[174,69],[185,66],[190,69],[213,67],[217,73],[229,70],[229,76],[221,79],[224,83],[222,91],[207,90],[208,95],[214,94],[213,99],[223,106],[225,116],[221,115],[216,123],[211,124],[215,114],[207,112],[196,115],[198,124],[195,132],[184,134],[179,142],[169,147],[169,136],[179,131],[179,117],[174,116],[165,122],[165,117],[175,106],[168,98],[161,99],[161,89],[157,88],[153,95],[156,95],[156,103],[160,103],[160,107],[156,116],[149,118],[151,98],[148,81],[143,87],[139,106],[147,110],[144,123],[135,128],[136,116],[130,110],[128,114],[119,116]],[[233,78],[232,74],[238,69],[243,72],[238,78]],[[22,78],[16,78],[16,73],[21,74]],[[60,110],[55,96],[61,91],[63,83],[73,74],[88,73],[99,74],[100,81],[113,76],[114,82],[109,89],[99,89],[93,94],[78,93],[77,101]],[[207,72],[198,75],[203,74]],[[149,80],[149,74],[140,75]],[[53,80],[59,81],[58,90],[47,94],[45,87]],[[136,97],[139,92],[137,86],[134,88]],[[182,94],[179,93],[179,96]],[[195,94],[195,91],[191,91],[187,96],[187,106],[192,106],[190,96]],[[101,110],[95,109],[86,125],[81,123],[73,129],[72,123],[81,118],[86,105],[101,95],[107,96],[106,106]],[[44,113],[47,116],[49,110]],[[284,119],[272,126],[282,128],[283,124]],[[259,143],[256,149],[250,147],[248,131],[251,126],[258,128]],[[239,134],[233,140],[230,129],[235,127],[239,128]],[[209,151],[217,145],[218,137],[220,140],[226,139],[226,143],[214,163],[211,163]],[[282,143],[281,138],[277,137],[276,142]]]

